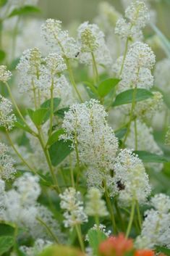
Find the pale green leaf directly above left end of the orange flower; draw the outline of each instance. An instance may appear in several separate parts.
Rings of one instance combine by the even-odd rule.
[[[98,255],[99,244],[101,244],[101,241],[106,240],[107,236],[101,230],[90,229],[88,231],[88,239],[90,247],[93,249],[93,254]]]

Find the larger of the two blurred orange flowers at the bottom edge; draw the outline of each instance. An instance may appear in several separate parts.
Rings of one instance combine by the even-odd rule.
[[[109,239],[103,241],[99,246],[99,252],[102,256],[123,256],[132,249],[132,239],[125,238],[122,233],[119,236],[110,236]]]

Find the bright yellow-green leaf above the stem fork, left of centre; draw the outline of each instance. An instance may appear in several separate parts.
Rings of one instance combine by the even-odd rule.
[[[41,108],[38,110],[27,110],[28,115],[30,116],[30,119],[33,121],[33,123],[36,126],[42,125],[43,123],[45,123],[46,119],[46,115],[48,113],[48,109],[47,108]]]

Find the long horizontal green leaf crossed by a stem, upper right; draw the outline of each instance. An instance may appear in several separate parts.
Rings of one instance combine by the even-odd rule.
[[[145,89],[137,88],[137,89],[129,89],[127,91],[123,91],[122,93],[116,96],[113,107],[132,103],[134,91],[136,90],[135,102],[142,102],[145,99],[149,99],[153,96],[153,94]]]

